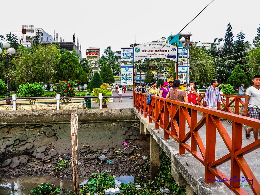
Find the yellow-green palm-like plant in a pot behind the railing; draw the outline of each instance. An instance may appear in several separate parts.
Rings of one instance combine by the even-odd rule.
[[[107,89],[108,84],[103,83],[99,88],[92,88],[93,93],[92,96],[99,96],[100,93],[102,93],[102,96],[111,96],[111,90]],[[93,98],[92,102],[100,103],[99,98]],[[109,97],[103,97],[102,99],[102,108],[107,108],[107,102],[109,102]]]

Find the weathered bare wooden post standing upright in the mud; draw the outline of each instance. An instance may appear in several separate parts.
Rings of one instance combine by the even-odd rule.
[[[73,185],[75,195],[80,195],[79,181],[78,181],[78,161],[77,161],[77,150],[78,150],[78,115],[71,113],[70,118],[71,126],[71,151],[72,151],[72,169],[73,169]]]

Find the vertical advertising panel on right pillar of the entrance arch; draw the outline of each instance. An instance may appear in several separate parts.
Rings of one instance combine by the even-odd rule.
[[[178,48],[178,80],[181,83],[187,82],[187,50],[182,47]]]

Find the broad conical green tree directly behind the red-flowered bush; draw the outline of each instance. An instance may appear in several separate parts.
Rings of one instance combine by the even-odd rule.
[[[85,73],[79,60],[72,55],[69,50],[62,54],[57,71],[58,80],[79,80],[78,84],[87,83],[87,73]]]

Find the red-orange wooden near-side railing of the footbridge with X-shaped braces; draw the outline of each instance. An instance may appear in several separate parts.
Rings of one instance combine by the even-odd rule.
[[[185,102],[169,100],[158,96],[151,96],[151,104],[147,105],[147,94],[134,92],[134,107],[138,112],[149,118],[149,122],[155,122],[155,128],[164,129],[164,138],[170,136],[179,142],[179,154],[191,153],[201,164],[205,166],[205,182],[207,184],[215,182],[215,176],[220,179],[226,178],[223,183],[228,186],[235,194],[248,194],[239,185],[241,171],[248,181],[254,194],[260,194],[260,185],[250,169],[248,163],[243,157],[260,147],[260,140],[242,148],[242,136],[244,136],[243,124],[260,129],[260,120],[252,119],[246,116],[213,110],[199,105],[192,105]],[[230,96],[228,96],[230,97]],[[239,97],[241,98],[241,97]],[[233,100],[232,100],[233,101]],[[239,101],[238,100],[234,100]],[[241,101],[239,101],[242,103]],[[176,109],[176,105],[179,107]],[[226,104],[226,106],[228,106]],[[191,116],[187,108],[191,108]],[[225,111],[228,108],[225,107]],[[203,117],[198,121],[198,112],[203,113]],[[176,118],[179,116],[179,125]],[[232,138],[229,136],[220,118],[233,121]],[[192,119],[192,120],[191,120]],[[190,130],[186,133],[187,121]],[[206,143],[202,142],[199,130],[206,125]],[[216,131],[217,129],[217,131]],[[224,141],[229,153],[216,160],[216,132],[218,132]],[[187,140],[190,145],[187,144]],[[199,152],[197,152],[197,146]],[[231,160],[230,177],[220,171],[217,166]],[[237,178],[237,179],[233,179]],[[253,179],[253,180],[252,180]],[[254,183],[253,183],[254,181]]]

